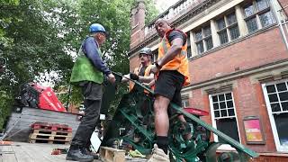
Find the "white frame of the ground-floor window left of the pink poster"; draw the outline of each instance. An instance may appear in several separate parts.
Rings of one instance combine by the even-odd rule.
[[[211,111],[211,121],[212,121],[212,126],[217,129],[217,124],[216,124],[216,120],[215,119],[215,114],[214,114],[214,107],[213,107],[213,101],[212,101],[212,96],[214,95],[220,95],[220,94],[228,94],[230,93],[231,94],[231,97],[232,97],[232,102],[234,104],[234,117],[223,117],[223,118],[217,118],[217,119],[227,119],[227,118],[235,118],[236,119],[236,122],[237,122],[237,130],[238,130],[238,138],[239,138],[239,143],[242,143],[241,142],[241,133],[240,133],[240,130],[239,130],[239,122],[238,122],[238,116],[237,116],[237,109],[236,109],[236,105],[235,105],[235,101],[234,101],[234,96],[233,96],[233,92],[232,91],[224,91],[224,92],[220,92],[220,93],[216,93],[216,94],[209,94],[209,103],[210,103],[210,111]],[[226,101],[226,99],[225,99]],[[214,137],[214,141],[218,142],[219,139],[218,139],[218,136],[216,134],[213,134],[213,137]],[[223,147],[221,147],[220,149],[231,149],[231,146],[229,144],[224,144]],[[233,149],[233,148],[232,148]]]

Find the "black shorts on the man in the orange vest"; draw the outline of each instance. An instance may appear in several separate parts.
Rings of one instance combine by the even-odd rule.
[[[162,70],[155,83],[155,94],[164,96],[182,107],[181,89],[184,76],[175,70]]]

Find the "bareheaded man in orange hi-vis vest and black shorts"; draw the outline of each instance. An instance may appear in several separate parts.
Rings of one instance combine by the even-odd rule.
[[[167,155],[170,102],[182,106],[181,89],[190,84],[186,34],[170,26],[165,19],[159,19],[155,28],[161,42],[158,47],[158,57],[151,71],[157,74],[155,87],[155,128],[157,144],[149,162],[169,161]],[[183,115],[182,115],[183,116]]]

